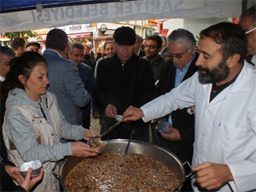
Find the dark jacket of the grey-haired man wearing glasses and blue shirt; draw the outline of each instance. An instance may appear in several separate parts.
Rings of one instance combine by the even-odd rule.
[[[187,73],[182,81],[189,79],[196,71],[195,61],[198,58],[196,53],[195,59],[191,62]],[[175,85],[176,67],[171,59],[167,59],[160,74],[160,95],[164,95],[171,91]],[[195,115],[188,113],[188,108],[177,109],[172,112],[172,126],[176,128],[181,136],[181,141],[171,142],[161,137],[160,133],[160,146],[172,151],[177,157],[184,161],[192,161],[193,155],[193,143],[195,139]],[[169,118],[169,114],[166,115],[166,119]]]

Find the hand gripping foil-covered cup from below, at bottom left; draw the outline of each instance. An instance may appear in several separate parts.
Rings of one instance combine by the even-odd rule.
[[[32,167],[30,167],[26,172],[26,177],[21,178],[21,182],[19,183],[22,188],[24,188],[26,191],[30,191],[32,187],[38,183],[43,177],[44,169],[41,168],[41,172],[37,177],[31,177],[32,176]]]

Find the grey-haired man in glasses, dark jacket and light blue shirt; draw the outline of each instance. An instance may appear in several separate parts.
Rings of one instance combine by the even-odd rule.
[[[195,51],[195,38],[191,32],[185,29],[174,30],[168,36],[167,47],[170,59],[164,62],[160,73],[160,95],[177,87],[197,71],[195,61],[198,53]],[[171,133],[158,133],[160,146],[172,151],[182,162],[189,161],[191,164],[195,137],[193,108],[177,109],[165,118],[172,125],[168,127]],[[191,187],[188,182],[183,185],[183,191],[189,190]]]

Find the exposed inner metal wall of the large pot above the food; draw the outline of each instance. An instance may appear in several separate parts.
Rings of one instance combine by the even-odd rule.
[[[114,139],[108,140],[107,142],[107,148],[103,153],[125,152],[128,140]],[[183,182],[183,180],[185,179],[185,170],[182,162],[174,154],[167,151],[165,148],[161,148],[150,143],[143,143],[140,141],[131,140],[128,153],[143,154],[145,156],[153,158],[154,160],[158,160],[163,165],[169,167],[170,170],[176,174],[177,179],[180,181],[180,183]],[[74,166],[77,166],[84,159],[85,158],[77,158],[71,156],[64,160],[64,162],[62,163],[60,167],[59,178],[64,191],[68,191],[64,185],[67,174],[73,169]],[[84,172],[84,174],[86,174],[86,172]]]

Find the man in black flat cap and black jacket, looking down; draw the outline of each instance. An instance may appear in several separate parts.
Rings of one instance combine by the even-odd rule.
[[[135,55],[136,34],[129,26],[113,33],[115,54],[99,61],[93,88],[100,125],[106,131],[115,123],[115,116],[130,105],[143,106],[154,98],[154,75],[148,61]],[[148,124],[142,119],[131,124],[121,124],[105,139],[128,139],[135,129],[133,139],[143,141]]]

